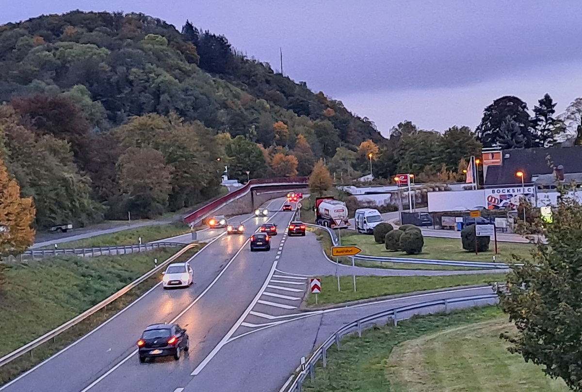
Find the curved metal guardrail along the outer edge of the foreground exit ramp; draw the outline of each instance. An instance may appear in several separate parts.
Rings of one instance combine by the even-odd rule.
[[[465,302],[481,302],[487,301],[486,303],[491,304],[491,300],[497,301],[496,294],[483,294],[483,295],[473,295],[473,296],[466,296],[460,298],[450,298],[450,299],[437,299],[435,301],[427,301],[427,302],[420,302],[414,303],[413,305],[406,305],[400,306],[400,308],[384,310],[383,312],[374,313],[372,315],[362,317],[361,319],[357,319],[352,323],[346,324],[345,326],[341,327],[340,329],[336,330],[330,337],[325,340],[320,347],[315,350],[313,355],[309,358],[309,360],[300,365],[299,373],[295,377],[293,377],[293,382],[289,384],[287,387],[283,387],[279,392],[301,392],[303,390],[303,382],[307,378],[307,375],[310,376],[311,382],[315,381],[315,365],[317,362],[322,359],[323,367],[327,367],[327,350],[332,347],[332,345],[336,344],[338,349],[340,349],[340,340],[342,336],[345,336],[349,333],[357,333],[359,337],[362,336],[362,330],[367,329],[371,326],[376,325],[376,321],[379,319],[386,319],[387,322],[393,322],[394,326],[398,326],[398,315],[404,312],[413,312],[415,310],[427,309],[427,308],[434,308],[435,306],[444,306],[445,312],[448,312],[449,305],[454,303],[465,303]],[[417,314],[417,313],[414,313]],[[402,317],[400,320],[405,320],[407,317]]]

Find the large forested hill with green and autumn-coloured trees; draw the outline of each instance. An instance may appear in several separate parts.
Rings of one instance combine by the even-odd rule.
[[[383,140],[225,37],[141,14],[0,26],[0,101],[2,158],[41,227],[193,206],[217,194],[223,164],[245,180],[307,175]]]

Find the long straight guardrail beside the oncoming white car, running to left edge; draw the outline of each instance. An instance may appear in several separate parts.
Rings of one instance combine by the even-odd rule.
[[[181,245],[183,245],[183,244],[181,244]],[[173,260],[182,256],[184,252],[186,252],[189,249],[194,248],[195,246],[198,246],[198,245],[195,243],[190,243],[189,245],[184,246],[184,248],[180,249],[179,252],[177,252],[175,255],[169,257],[167,260],[165,260],[164,262],[159,264],[154,269],[150,270],[148,273],[145,273],[143,276],[137,278],[136,280],[134,280],[133,282],[128,284],[126,287],[120,289],[115,294],[109,296],[108,298],[104,299],[103,301],[101,301],[97,305],[93,306],[93,308],[86,310],[85,312],[81,313],[79,316],[74,317],[73,319],[69,320],[68,322],[62,324],[61,326],[56,327],[52,331],[45,333],[44,335],[36,338],[35,340],[31,341],[30,343],[23,345],[22,347],[16,349],[15,351],[12,351],[9,354],[6,354],[2,358],[0,358],[0,367],[6,365],[6,363],[14,361],[16,358],[19,358],[20,356],[26,354],[27,352],[31,352],[33,349],[48,342],[52,338],[55,338],[56,336],[63,333],[64,331],[70,329],[71,327],[75,326],[76,324],[79,324],[81,321],[83,321],[87,317],[93,315],[95,312],[98,312],[98,310],[105,308],[105,306],[109,305],[110,303],[112,303],[116,299],[125,295],[128,291],[137,287],[137,285],[143,283],[145,280],[147,280],[147,279],[151,278],[152,276],[154,276],[155,274],[159,273],[159,271],[161,271],[166,266],[166,264],[171,263]]]

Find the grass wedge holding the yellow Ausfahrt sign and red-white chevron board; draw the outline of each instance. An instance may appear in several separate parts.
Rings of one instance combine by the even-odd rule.
[[[317,295],[318,305],[357,301],[359,299],[378,296],[405,294],[407,292],[435,290],[448,287],[459,287],[473,284],[489,284],[503,281],[505,274],[473,274],[450,276],[357,276],[356,291],[353,289],[353,278],[341,276],[338,291],[338,277],[322,276],[322,291]],[[309,294],[307,305],[315,304],[315,295]]]

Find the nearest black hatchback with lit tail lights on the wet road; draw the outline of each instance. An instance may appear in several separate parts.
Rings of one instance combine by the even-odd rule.
[[[137,341],[140,362],[156,356],[173,356],[176,361],[180,359],[182,350],[188,351],[190,346],[186,330],[178,324],[152,324],[141,334]]]

